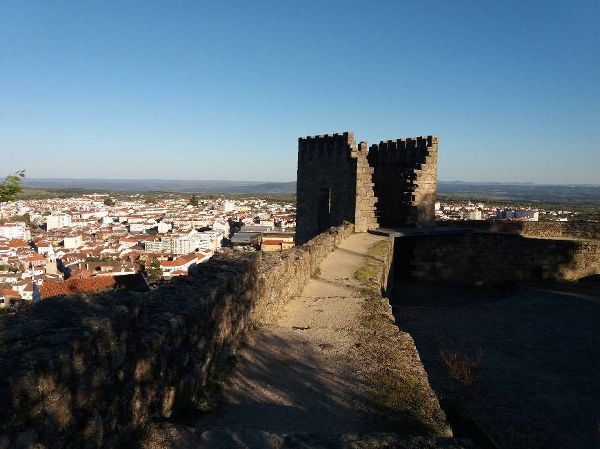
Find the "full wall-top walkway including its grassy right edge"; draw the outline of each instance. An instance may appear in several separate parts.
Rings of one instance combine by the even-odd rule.
[[[463,447],[437,439],[452,432],[412,338],[392,323],[378,285],[381,304],[370,307],[381,322],[366,327],[366,281],[359,284],[354,272],[366,269],[368,258],[381,266],[369,255],[381,240],[358,233],[341,242],[278,320],[252,333],[212,411],[193,428],[158,424],[143,448]],[[382,412],[379,402],[376,409],[374,390],[406,408]],[[420,417],[412,404],[421,404]],[[434,426],[427,435],[419,433],[423,419]]]

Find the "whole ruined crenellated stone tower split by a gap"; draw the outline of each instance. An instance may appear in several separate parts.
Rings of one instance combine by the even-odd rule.
[[[299,138],[297,242],[343,221],[356,232],[432,224],[437,149],[437,136],[381,141],[369,151],[352,132]]]

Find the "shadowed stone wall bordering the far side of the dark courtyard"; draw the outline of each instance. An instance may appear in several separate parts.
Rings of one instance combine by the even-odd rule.
[[[511,280],[577,280],[600,274],[600,241],[466,233],[397,238],[399,275],[424,282],[482,285]]]

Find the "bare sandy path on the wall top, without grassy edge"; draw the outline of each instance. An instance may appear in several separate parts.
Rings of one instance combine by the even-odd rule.
[[[273,324],[252,335],[213,413],[194,428],[266,432],[348,432],[377,428],[355,375],[352,330],[362,299],[352,277],[368,248],[383,240],[353,234],[321,264],[321,273]]]

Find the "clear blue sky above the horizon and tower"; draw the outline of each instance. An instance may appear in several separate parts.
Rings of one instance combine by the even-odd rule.
[[[0,167],[289,181],[353,131],[438,134],[441,180],[600,183],[599,5],[1,0]]]

